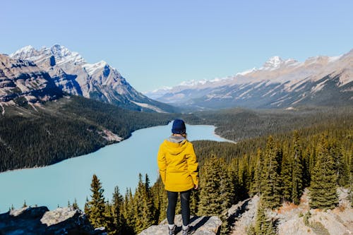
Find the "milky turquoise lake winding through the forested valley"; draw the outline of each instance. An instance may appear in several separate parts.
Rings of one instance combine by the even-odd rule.
[[[112,198],[115,186],[125,195],[126,188],[134,192],[138,174],[148,174],[150,184],[158,176],[157,151],[160,143],[171,133],[168,126],[144,128],[131,137],[102,147],[96,152],[40,168],[6,171],[0,174],[0,213],[8,208],[27,205],[45,205],[49,210],[58,205],[66,207],[76,198],[81,209],[86,197],[90,198],[92,175],[102,182],[106,199]],[[227,141],[215,135],[214,126],[186,125],[189,140]]]

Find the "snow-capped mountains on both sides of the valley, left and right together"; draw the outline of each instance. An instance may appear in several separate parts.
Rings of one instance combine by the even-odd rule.
[[[105,61],[88,64],[66,47],[0,54],[0,107],[56,100],[80,95],[145,112],[177,112],[229,107],[292,108],[301,105],[353,104],[353,50],[342,56],[316,56],[304,62],[270,58],[227,78],[184,82],[145,95],[136,91],[116,68]]]

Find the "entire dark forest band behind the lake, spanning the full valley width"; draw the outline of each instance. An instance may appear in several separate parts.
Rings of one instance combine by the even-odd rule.
[[[322,126],[328,120],[335,124],[353,119],[353,108],[222,109],[160,114],[121,109],[76,96],[47,102],[36,110],[23,103],[22,107],[7,107],[0,117],[0,172],[55,164],[115,143],[104,138],[104,130],[125,139],[140,128],[166,125],[176,118],[191,124],[214,125],[216,133],[224,138],[237,142],[248,139],[259,147],[264,145],[263,140],[257,140],[262,136]]]

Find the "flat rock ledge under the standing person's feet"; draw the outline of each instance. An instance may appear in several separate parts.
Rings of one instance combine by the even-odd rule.
[[[174,219],[177,225],[177,234],[181,234],[181,215],[177,215]],[[143,230],[139,235],[164,235],[168,233],[168,222],[164,219],[159,225],[153,225]],[[193,216],[190,219],[190,230],[193,235],[216,235],[220,233],[222,221],[215,216]]]

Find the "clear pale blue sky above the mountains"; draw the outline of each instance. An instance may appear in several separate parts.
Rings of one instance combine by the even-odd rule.
[[[0,52],[61,44],[139,91],[353,48],[353,1],[5,0]]]

